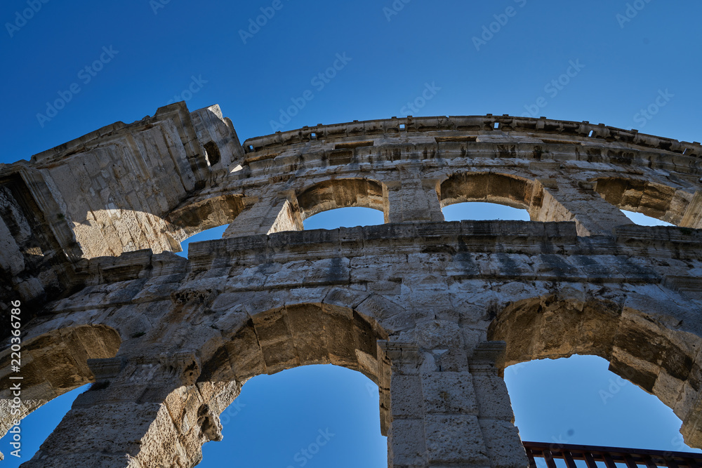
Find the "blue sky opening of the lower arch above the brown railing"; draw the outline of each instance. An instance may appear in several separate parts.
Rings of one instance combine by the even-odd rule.
[[[608,365],[598,356],[576,354],[506,368],[505,383],[522,440],[702,451],[684,444],[681,421],[673,410],[607,370]]]

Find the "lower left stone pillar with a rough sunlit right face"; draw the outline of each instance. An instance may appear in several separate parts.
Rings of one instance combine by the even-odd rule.
[[[202,459],[203,443],[222,439],[223,408],[195,385],[194,352],[88,365],[95,384],[22,468],[190,468]]]

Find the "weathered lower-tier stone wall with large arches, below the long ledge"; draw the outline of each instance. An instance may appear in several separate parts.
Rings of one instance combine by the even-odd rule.
[[[309,363],[336,363],[379,383],[380,413],[391,436],[391,460],[398,457],[395,466],[432,466],[449,460],[522,466],[517,433],[510,429],[508,397],[497,377],[505,363],[494,346],[488,346],[493,349],[492,361],[481,357],[486,346],[481,343],[491,339],[507,342],[507,363],[574,352],[607,357],[616,373],[669,404],[684,420],[686,437],[695,443],[702,434],[694,416],[700,410],[696,401],[702,329],[692,311],[701,309],[702,296],[699,290],[673,285],[675,281],[684,285],[680,279],[686,277],[698,281],[702,236],[677,228],[654,231],[627,227],[608,239],[579,237],[574,223],[418,223],[208,241],[194,244],[189,260],[149,251],[91,260],[85,270],[88,286],[51,304],[51,314],[37,321],[32,333],[41,336],[65,323],[114,328],[124,342],[114,361],[119,363],[115,364],[119,374],[105,377],[110,382],[133,385],[134,375],[147,373],[164,359],[176,359],[168,356],[184,349],[192,350],[198,375],[192,377],[194,384],[184,384],[164,383],[147,373],[150,377],[144,377],[142,387],[110,383],[105,389],[93,389],[88,394],[100,396],[98,402],[105,395],[110,405],[127,399],[132,403],[124,404],[137,406],[117,410],[105,406],[108,403],[88,404],[93,400],[81,397],[56,434],[59,439],[52,436],[44,444],[41,457],[47,458],[28,466],[67,466],[72,462],[67,460],[79,456],[106,462],[95,455],[105,450],[124,450],[140,461],[180,453],[183,466],[192,466],[187,463],[199,460],[199,448],[189,448],[183,455],[164,434],[180,431],[174,441],[193,437],[192,447],[211,439],[197,435],[204,429],[194,422],[187,430],[164,427],[165,422],[158,422],[164,417],[159,416],[159,401],[173,392],[180,395],[178,401],[193,398],[197,405],[192,403],[183,417],[197,421],[193,415],[199,406],[212,406],[199,389],[208,382],[240,386],[253,375]],[[672,256],[651,256],[655,251]],[[511,311],[524,309],[519,304],[526,297],[533,298],[529,304],[534,305],[525,319],[523,313]],[[527,325],[543,331],[530,332]],[[613,331],[595,333],[602,329]],[[512,332],[528,337],[531,345],[508,334]],[[648,349],[625,338],[637,334],[645,337]],[[376,340],[409,346],[410,363],[402,353],[402,359],[385,351],[378,354]],[[532,351],[537,345],[538,351]],[[379,356],[382,366],[391,369],[390,380],[388,371],[378,375]],[[155,361],[147,365],[145,359]],[[419,385],[421,392],[414,388],[411,393],[426,400],[420,406],[406,401],[403,395],[410,391],[406,388],[410,383],[397,384],[395,390],[392,376]],[[455,396],[456,409],[432,406],[437,404],[432,389],[444,380],[451,382],[446,388],[458,384],[467,388],[467,394]],[[118,389],[124,396],[110,396]],[[159,395],[155,400],[140,399],[154,392]],[[140,406],[147,403],[154,409]],[[153,436],[156,445],[134,446],[129,445],[131,439],[122,441],[117,435],[99,439],[93,435],[82,455],[69,449],[61,434],[76,436],[79,430],[86,434],[80,437],[88,437],[104,432],[108,407],[116,410],[114,417],[125,408],[141,408],[147,420],[124,437],[139,439],[143,431],[141,440],[151,440],[147,434],[156,430],[160,434]],[[405,413],[409,409],[402,408],[420,413]],[[432,429],[432,420],[456,434],[444,437],[446,433]],[[119,427],[126,421],[110,424]],[[424,435],[416,439],[417,434]],[[470,442],[471,450],[456,448],[459,441]],[[49,464],[54,458],[55,464]],[[412,464],[402,461],[410,458]],[[417,460],[427,464],[415,464]]]

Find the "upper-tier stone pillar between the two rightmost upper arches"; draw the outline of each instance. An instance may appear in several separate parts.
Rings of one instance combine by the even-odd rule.
[[[595,192],[594,183],[555,179],[538,180],[543,185],[541,206],[530,210],[533,221],[575,221],[578,236],[611,236],[612,229],[633,222],[616,206]]]

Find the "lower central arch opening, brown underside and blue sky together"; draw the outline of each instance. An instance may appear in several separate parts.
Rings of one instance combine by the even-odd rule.
[[[317,466],[336,466],[333,460],[335,457],[339,460],[338,457],[343,456],[340,453],[344,450],[347,453],[357,450],[358,446],[352,441],[359,434],[351,434],[344,427],[338,427],[338,429],[333,427],[331,418],[336,412],[334,407],[345,406],[340,409],[343,409],[343,413],[347,415],[349,411],[365,412],[367,424],[369,405],[373,404],[375,406],[373,424],[376,432],[370,439],[365,440],[372,440],[375,448],[363,456],[366,457],[364,460],[368,460],[368,457],[377,457],[376,464],[359,462],[357,466],[386,466],[386,442],[380,436],[380,431],[383,428],[383,417],[388,415],[381,411],[378,417],[378,409],[383,407],[383,403],[378,406],[378,402],[383,401],[383,392],[387,393],[387,389],[381,388],[378,392],[376,382],[379,378],[377,341],[387,339],[387,335],[378,324],[352,308],[319,303],[287,305],[252,314],[250,317],[234,330],[229,332],[223,330],[223,344],[213,352],[211,359],[203,363],[198,380],[199,382],[241,382],[241,384],[246,382],[242,393],[238,397],[230,396],[225,405],[228,408],[220,413],[220,421],[225,428],[224,434],[246,432],[247,436],[251,436],[270,434],[272,431],[279,430],[285,434],[285,437],[280,439],[286,441],[284,445],[276,445],[275,450],[270,450],[270,436],[266,436],[263,441],[266,445],[262,447],[271,451],[272,457],[277,457],[270,466],[275,464],[300,466],[299,463],[302,463],[302,460],[311,460],[301,451],[308,447],[310,455],[317,455],[312,451],[319,453],[319,460],[327,460],[326,457],[331,457],[329,459],[331,462],[322,462]],[[334,366],[319,366],[319,364]],[[301,366],[306,367],[303,369]],[[357,370],[358,373],[352,373],[349,370]],[[342,378],[342,381],[339,382],[338,378]],[[319,385],[326,387],[310,388],[306,386],[307,380],[322,382]],[[334,382],[335,380],[337,381]],[[251,385],[251,391],[246,390],[248,385]],[[322,394],[320,395],[319,392]],[[329,403],[320,404],[318,399],[322,396]],[[237,399],[234,399],[235,397]],[[387,408],[387,401],[385,403]],[[321,421],[328,422],[318,423],[320,419],[305,415],[304,409],[300,413],[300,408],[313,408],[314,413],[318,413],[322,418]],[[251,420],[242,422],[247,417]],[[272,426],[277,426],[277,429]],[[328,428],[329,433],[334,434],[331,436],[333,439],[325,436],[329,434],[326,432]],[[295,435],[291,436],[291,433]],[[299,441],[296,439],[298,436]],[[317,441],[318,436],[321,437],[319,441]],[[234,437],[239,436],[232,435],[232,438]],[[350,445],[346,445],[347,443]],[[242,446],[232,447],[249,450],[250,455],[257,460],[251,466],[254,464],[268,466],[267,463],[260,461],[260,451],[251,446],[251,444],[255,445],[256,441],[245,444],[242,441],[242,444]],[[332,445],[336,445],[336,448],[323,453],[323,448],[327,444],[329,448]],[[220,453],[220,456],[225,456],[221,453],[231,453],[232,447],[206,448],[205,455]],[[245,455],[239,454],[237,458],[241,456]],[[204,456],[200,466],[223,465],[216,456],[212,460]]]

